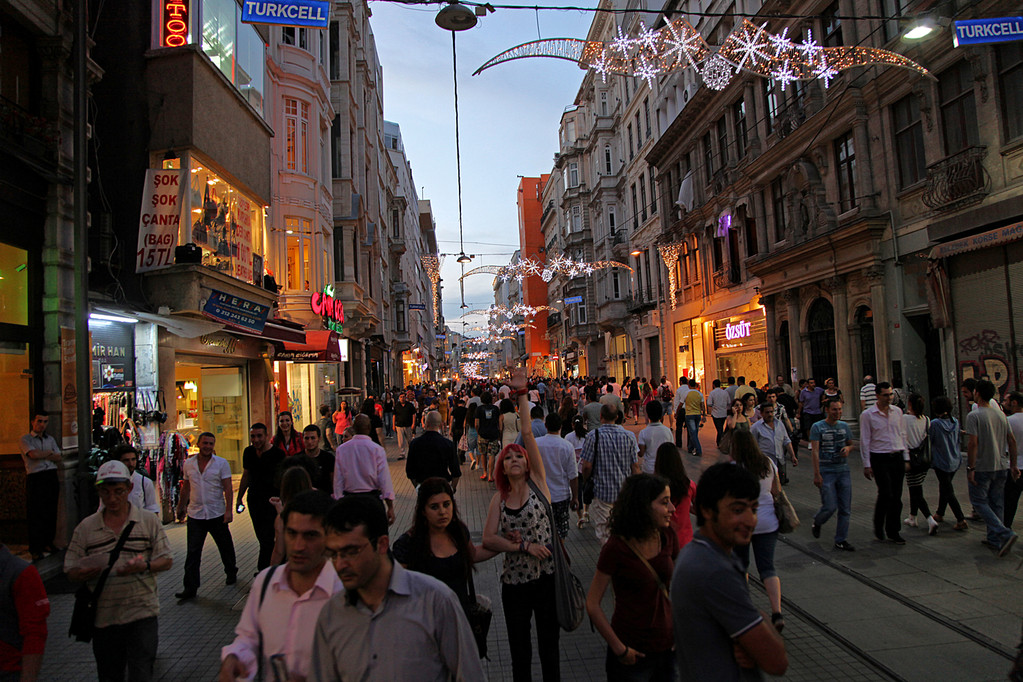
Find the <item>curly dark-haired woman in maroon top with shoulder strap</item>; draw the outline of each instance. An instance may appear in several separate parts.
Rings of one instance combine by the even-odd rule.
[[[674,645],[668,583],[678,555],[668,481],[650,473],[625,480],[611,512],[611,539],[601,550],[586,611],[608,642],[608,680],[673,682]],[[656,575],[655,575],[656,574]],[[611,621],[601,608],[615,590]]]

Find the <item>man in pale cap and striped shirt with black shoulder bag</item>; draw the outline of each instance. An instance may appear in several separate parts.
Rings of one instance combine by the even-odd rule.
[[[122,680],[127,671],[128,679],[144,682],[152,678],[159,644],[155,574],[171,567],[171,545],[157,515],[128,501],[132,480],[122,462],[99,467],[96,489],[103,508],[75,529],[64,572],[95,595],[92,651],[99,679]]]

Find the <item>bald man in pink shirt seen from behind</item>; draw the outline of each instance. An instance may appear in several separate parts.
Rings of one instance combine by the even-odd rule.
[[[387,466],[387,451],[369,438],[372,422],[365,414],[352,422],[355,436],[338,446],[333,465],[333,497],[369,495],[384,500],[388,524],[394,522],[394,486]]]

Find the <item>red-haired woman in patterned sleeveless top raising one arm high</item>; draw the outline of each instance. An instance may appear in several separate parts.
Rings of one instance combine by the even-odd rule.
[[[525,370],[516,370],[508,385],[519,412],[529,414]],[[511,649],[513,679],[516,682],[531,679],[530,629],[535,616],[543,679],[557,682],[561,679],[558,648],[561,630],[554,605],[551,551],[555,548],[562,551],[562,547],[547,515],[550,491],[532,429],[523,428],[522,439],[525,447],[507,445],[497,455],[494,465],[497,493],[490,500],[483,546],[494,552],[504,552],[501,602]]]

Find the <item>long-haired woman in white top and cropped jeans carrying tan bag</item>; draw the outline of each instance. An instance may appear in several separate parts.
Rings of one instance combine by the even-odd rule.
[[[759,506],[757,507],[757,525],[753,529],[753,538],[748,545],[736,547],[743,567],[750,572],[750,548],[753,548],[753,558],[757,564],[757,574],[767,592],[770,604],[770,622],[782,632],[785,628],[785,618],[782,616],[782,580],[774,569],[774,548],[777,547],[777,516],[774,514],[774,499],[782,494],[782,484],[779,483],[777,467],[757,447],[756,439],[750,431],[737,431],[731,447],[731,458],[739,466],[757,478],[760,484]]]

